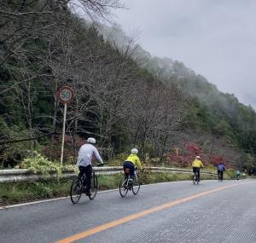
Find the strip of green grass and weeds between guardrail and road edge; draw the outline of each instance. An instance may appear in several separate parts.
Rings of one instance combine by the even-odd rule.
[[[207,170],[208,171],[208,170]],[[99,190],[119,188],[121,174],[113,176],[98,176]],[[191,180],[192,173],[151,173],[143,171],[140,174],[142,184],[158,182],[176,182]],[[235,171],[228,170],[224,179],[234,179]],[[217,180],[217,176],[201,174],[201,180]],[[42,182],[2,183],[0,187],[0,205],[12,205],[27,201],[67,197],[72,179],[58,179]],[[119,194],[117,194],[119,196]]]

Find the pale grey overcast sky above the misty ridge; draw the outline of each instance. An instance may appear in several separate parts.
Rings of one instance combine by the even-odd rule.
[[[256,0],[124,0],[116,22],[151,55],[182,61],[256,108]]]

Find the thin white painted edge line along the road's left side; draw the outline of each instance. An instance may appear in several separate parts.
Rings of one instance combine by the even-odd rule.
[[[208,180],[204,180],[204,181],[208,181]],[[209,180],[212,181],[212,180]],[[177,182],[189,182],[189,180],[186,181],[176,181]],[[161,185],[161,184],[168,184],[168,183],[175,183],[175,182],[160,182],[160,183],[151,183],[151,184],[145,184],[142,185],[142,187],[149,187],[149,186],[155,186],[155,185]],[[99,191],[97,192],[97,194],[106,194],[106,193],[110,193],[110,192],[114,192],[114,191],[118,191],[119,188],[116,189],[109,189],[109,190],[104,190],[104,191]],[[85,196],[85,195],[84,195]],[[67,197],[61,197],[61,198],[55,198],[55,199],[49,199],[49,200],[38,200],[38,201],[32,201],[32,202],[27,202],[27,203],[21,203],[21,204],[15,204],[15,205],[6,205],[6,206],[0,206],[0,210],[4,210],[4,209],[10,209],[10,208],[15,208],[15,207],[20,207],[20,206],[24,206],[24,205],[36,205],[36,204],[40,204],[40,203],[44,203],[44,202],[50,202],[50,201],[56,201],[56,200],[66,200],[69,199],[69,196]]]

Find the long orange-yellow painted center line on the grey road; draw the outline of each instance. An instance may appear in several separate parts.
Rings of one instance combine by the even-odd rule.
[[[123,217],[123,218],[120,218],[118,220],[114,220],[114,221],[109,222],[109,223],[104,223],[102,225],[96,226],[95,228],[85,230],[84,232],[81,232],[79,234],[74,234],[74,235],[69,236],[69,237],[67,237],[65,239],[58,240],[55,243],[70,243],[70,242],[74,242],[76,240],[84,239],[84,238],[86,238],[86,237],[88,237],[88,236],[90,236],[92,234],[96,234],[96,233],[102,232],[102,231],[104,231],[106,229],[113,228],[113,227],[118,226],[120,224],[123,224],[123,223],[129,222],[131,220],[137,219],[138,217],[143,217],[143,216],[151,214],[153,212],[161,211],[161,210],[164,210],[166,208],[172,207],[174,205],[179,205],[179,204],[188,202],[190,200],[195,200],[195,199],[203,197],[203,196],[205,196],[207,194],[212,194],[212,193],[215,193],[215,192],[218,192],[218,191],[222,191],[222,190],[227,189],[227,188],[235,187],[237,185],[238,184],[224,186],[224,187],[221,187],[221,188],[215,188],[215,189],[212,189],[210,191],[202,192],[200,194],[194,194],[194,195],[182,198],[182,199],[171,201],[171,202],[163,204],[163,205],[158,205],[158,206],[155,206],[155,207],[150,208],[148,210],[137,212],[137,213],[132,214],[132,215],[130,215],[128,217]]]

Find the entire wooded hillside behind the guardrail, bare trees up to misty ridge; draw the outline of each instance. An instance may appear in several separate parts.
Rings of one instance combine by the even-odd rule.
[[[172,60],[135,60],[135,47],[113,44],[70,9],[72,1],[4,0],[0,10],[0,167],[37,150],[59,159],[68,85],[65,162],[95,136],[104,156],[140,149],[144,159],[189,165],[256,166],[256,114],[200,75]],[[79,1],[91,18],[118,1]],[[107,4],[108,3],[108,4]],[[170,63],[169,63],[170,61]],[[172,63],[171,63],[172,62]],[[165,65],[164,65],[165,64]],[[107,158],[106,158],[107,159]]]

